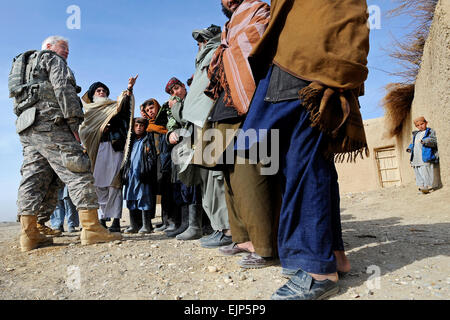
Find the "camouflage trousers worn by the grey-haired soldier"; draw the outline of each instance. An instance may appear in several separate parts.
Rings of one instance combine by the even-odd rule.
[[[19,215],[51,215],[61,186],[58,179],[67,185],[78,210],[98,209],[89,158],[67,125],[35,123],[20,133],[20,142],[23,164],[17,197]]]

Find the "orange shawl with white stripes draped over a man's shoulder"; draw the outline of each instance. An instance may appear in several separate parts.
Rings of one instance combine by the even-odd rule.
[[[212,58],[205,94],[217,100],[225,90],[225,105],[246,114],[256,89],[248,55],[269,22],[270,7],[260,0],[245,0],[222,32],[222,43]]]

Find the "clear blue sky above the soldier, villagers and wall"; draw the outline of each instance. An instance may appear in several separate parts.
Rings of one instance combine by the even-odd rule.
[[[270,1],[266,1],[270,2]],[[371,32],[369,78],[361,99],[364,119],[383,115],[380,100],[384,86],[398,79],[386,71],[399,67],[387,55],[395,38],[401,39],[411,27],[409,17],[387,18],[391,0],[368,1],[381,9],[381,29]],[[80,29],[70,30],[66,10],[81,9]],[[106,83],[111,96],[126,88],[128,78],[139,74],[136,103],[153,97],[161,104],[167,99],[164,86],[172,76],[187,80],[194,73],[197,46],[194,29],[214,23],[223,26],[225,16],[220,0],[15,0],[0,10],[0,221],[16,216],[22,148],[15,133],[15,115],[8,98],[8,73],[17,54],[40,49],[49,35],[70,41],[69,66],[83,93],[95,81]]]

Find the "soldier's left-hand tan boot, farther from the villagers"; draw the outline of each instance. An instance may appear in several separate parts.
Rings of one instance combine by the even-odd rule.
[[[20,225],[22,229],[19,241],[22,252],[53,244],[53,238],[46,237],[39,232],[36,216],[20,216]]]

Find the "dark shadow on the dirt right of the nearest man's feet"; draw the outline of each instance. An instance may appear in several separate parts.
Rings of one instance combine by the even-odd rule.
[[[352,271],[339,282],[341,294],[363,285],[373,275],[367,273],[369,266],[378,266],[383,276],[423,259],[450,256],[450,223],[404,225],[398,217],[353,221],[350,214],[341,219],[352,264]]]

